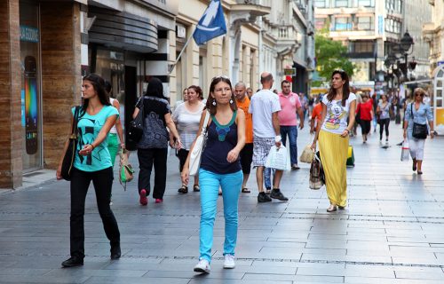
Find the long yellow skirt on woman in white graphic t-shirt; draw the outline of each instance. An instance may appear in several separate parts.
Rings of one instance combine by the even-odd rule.
[[[347,202],[347,150],[348,136],[321,130],[319,152],[325,172],[325,183],[330,204],[345,206]]]

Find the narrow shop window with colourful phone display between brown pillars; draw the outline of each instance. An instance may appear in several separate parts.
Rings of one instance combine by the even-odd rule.
[[[39,4],[20,0],[21,135],[23,171],[42,168],[42,88]]]

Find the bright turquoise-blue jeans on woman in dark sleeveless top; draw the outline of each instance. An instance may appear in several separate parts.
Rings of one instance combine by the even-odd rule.
[[[239,170],[232,174],[216,174],[209,170],[199,170],[201,185],[201,228],[199,259],[211,261],[213,246],[213,226],[218,209],[218,190],[222,187],[225,217],[224,256],[234,256],[237,241],[237,220],[239,194],[241,193],[243,174]]]

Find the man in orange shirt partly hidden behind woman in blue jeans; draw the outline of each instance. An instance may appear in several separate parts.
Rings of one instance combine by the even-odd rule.
[[[243,172],[242,193],[250,193],[247,188],[247,181],[250,177],[251,162],[253,161],[253,119],[249,113],[250,99],[247,96],[247,87],[245,83],[239,82],[234,86],[234,96],[237,107],[242,109],[245,114],[245,146],[239,156]]]

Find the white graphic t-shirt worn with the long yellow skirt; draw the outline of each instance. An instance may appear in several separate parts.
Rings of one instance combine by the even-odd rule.
[[[345,101],[345,106],[342,106],[342,99],[329,101],[327,94],[325,94],[322,99],[322,104],[327,106],[327,114],[325,115],[321,130],[342,134],[347,127],[348,113],[350,112],[350,104],[353,100],[356,100],[356,96],[351,92]]]

